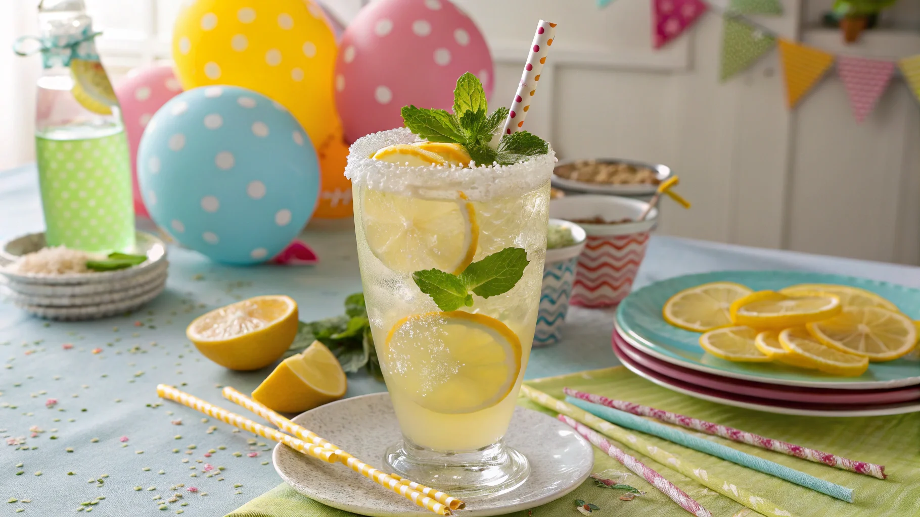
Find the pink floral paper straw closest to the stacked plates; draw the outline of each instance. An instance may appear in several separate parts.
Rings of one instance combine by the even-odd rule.
[[[741,431],[740,429],[735,429],[727,425],[720,425],[711,421],[699,420],[679,413],[673,413],[671,411],[658,410],[655,408],[650,408],[649,406],[642,406],[633,402],[627,402],[625,400],[607,399],[603,395],[585,393],[577,389],[565,388],[565,393],[569,397],[587,400],[589,402],[593,402],[594,404],[600,404],[615,410],[627,411],[634,415],[651,417],[660,421],[673,423],[687,429],[699,431],[700,433],[721,436],[722,438],[726,438],[740,444],[753,445],[755,447],[760,447],[769,451],[775,451],[784,455],[795,456],[801,459],[813,461],[815,463],[822,463],[827,466],[834,466],[843,470],[849,470],[850,472],[856,472],[857,474],[865,474],[866,476],[872,476],[873,478],[884,479],[887,477],[885,475],[885,466],[883,465],[875,465],[874,463],[855,461],[838,455],[823,453],[809,447],[789,444],[781,440],[766,438],[765,436],[761,436],[759,434],[748,433],[747,431]]]

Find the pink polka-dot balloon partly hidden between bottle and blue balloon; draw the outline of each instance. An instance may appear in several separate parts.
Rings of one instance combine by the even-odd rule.
[[[134,213],[149,218],[141,190],[137,186],[137,148],[147,122],[169,99],[182,93],[171,62],[158,62],[133,69],[115,88],[121,104],[121,118],[128,133],[131,150],[131,170],[134,188]]]

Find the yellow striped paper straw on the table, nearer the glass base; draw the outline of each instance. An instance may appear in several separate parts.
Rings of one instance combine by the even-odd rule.
[[[422,487],[421,485],[418,485],[418,483],[415,483],[418,487],[422,487],[429,491],[420,490],[417,487],[411,486],[411,483],[413,482],[405,483],[402,482],[401,478],[385,474],[385,472],[378,470],[374,468],[374,466],[370,466],[362,462],[360,459],[354,457],[353,455],[350,455],[341,450],[339,445],[329,443],[322,436],[319,436],[318,434],[313,433],[305,427],[297,425],[293,421],[284,418],[282,415],[276,413],[273,410],[270,410],[268,407],[257,402],[256,400],[249,399],[246,395],[236,391],[234,388],[230,388],[229,386],[225,387],[224,398],[231,400],[240,406],[243,406],[247,410],[256,413],[265,420],[270,421],[285,433],[292,433],[293,435],[298,436],[311,444],[316,444],[328,450],[335,451],[336,454],[339,455],[340,463],[348,466],[351,468],[351,470],[354,470],[365,478],[374,480],[374,482],[380,486],[393,490],[397,494],[405,497],[408,500],[411,500],[423,508],[441,515],[450,515],[451,510],[458,510],[466,506],[462,500],[455,499],[454,497],[449,496],[441,491],[428,489],[427,487]],[[432,491],[434,492],[433,494],[431,493]]]

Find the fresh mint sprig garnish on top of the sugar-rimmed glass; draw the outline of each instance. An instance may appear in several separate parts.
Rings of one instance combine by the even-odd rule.
[[[498,150],[489,147],[492,135],[508,118],[508,108],[500,107],[489,114],[486,92],[477,76],[468,72],[457,79],[454,113],[407,106],[402,108],[402,118],[410,131],[425,140],[463,145],[480,165],[511,165],[549,152],[545,140],[527,131],[502,135]]]

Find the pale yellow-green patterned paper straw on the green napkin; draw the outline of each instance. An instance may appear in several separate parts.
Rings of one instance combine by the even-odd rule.
[[[635,433],[631,433],[622,427],[610,423],[609,421],[595,417],[588,411],[581,410],[581,408],[576,408],[575,406],[567,404],[562,400],[554,399],[549,395],[546,395],[546,393],[531,388],[527,385],[523,385],[521,387],[521,393],[523,393],[524,396],[526,396],[528,399],[535,401],[537,404],[540,404],[546,409],[558,411],[577,421],[581,421],[581,423],[591,427],[593,430],[609,436],[617,442],[625,444],[628,447],[642,453],[643,455],[649,456],[658,463],[661,463],[661,465],[667,466],[676,472],[680,472],[687,478],[694,479],[704,487],[719,492],[730,500],[741,503],[753,511],[759,511],[764,515],[794,517],[792,512],[779,508],[776,503],[770,500],[766,500],[760,496],[753,495],[747,489],[730,483],[725,479],[711,475],[705,469],[684,461],[684,459],[682,459],[679,455],[674,455],[665,451],[664,449],[661,449],[661,447],[657,445],[650,444],[644,438],[637,436]]]

